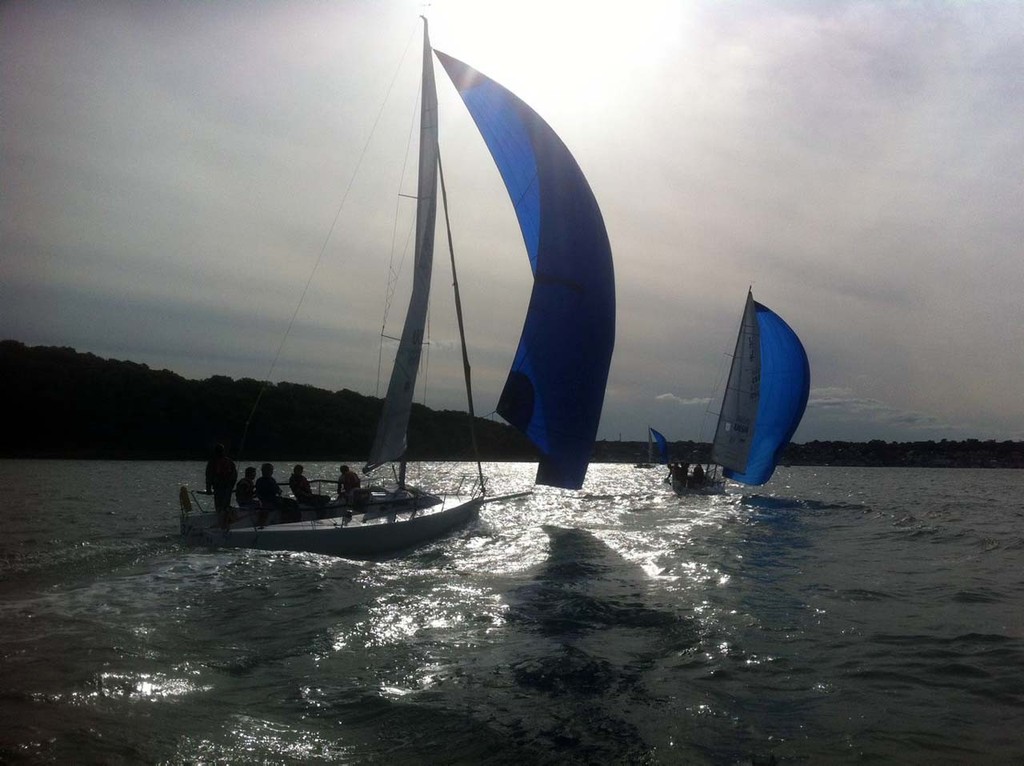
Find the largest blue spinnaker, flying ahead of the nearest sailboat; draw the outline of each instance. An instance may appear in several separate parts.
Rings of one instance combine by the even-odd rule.
[[[434,51],[501,172],[534,270],[498,413],[541,452],[537,483],[578,490],[597,437],[615,336],[611,248],[561,139],[513,93]]]

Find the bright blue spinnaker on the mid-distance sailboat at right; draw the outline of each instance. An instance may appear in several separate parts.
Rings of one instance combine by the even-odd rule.
[[[807,408],[811,372],[800,338],[782,317],[754,301],[761,346],[760,399],[746,468],[723,474],[744,484],[771,478]]]

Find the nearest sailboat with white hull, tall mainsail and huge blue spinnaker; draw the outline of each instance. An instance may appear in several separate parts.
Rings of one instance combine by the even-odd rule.
[[[440,201],[447,211],[437,129],[434,56],[469,110],[512,200],[534,273],[526,317],[497,412],[539,453],[536,483],[578,490],[597,436],[614,345],[614,272],[600,209],[575,160],[550,126],[513,93],[462,61],[435,51],[423,26],[414,286],[377,434],[365,470],[404,456],[412,397],[426,324]],[[470,422],[474,418],[469,361],[455,256],[459,316]],[[473,437],[475,445],[475,436]],[[241,521],[228,529],[200,524],[181,494],[182,536],[190,543],[328,553],[371,558],[441,537],[476,517],[486,502],[482,469],[470,496],[430,496],[423,503],[331,518],[264,526]],[[355,509],[353,509],[354,511]],[[209,514],[203,514],[209,516]]]

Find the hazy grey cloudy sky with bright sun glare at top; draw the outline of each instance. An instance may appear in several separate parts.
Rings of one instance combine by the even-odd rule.
[[[710,439],[751,287],[801,337],[794,440],[1024,439],[1024,3],[0,4],[0,338],[382,395],[420,14],[570,148],[616,341],[599,438]],[[443,70],[476,412],[530,272]],[[438,224],[417,400],[464,409]],[[493,416],[497,417],[497,416]]]

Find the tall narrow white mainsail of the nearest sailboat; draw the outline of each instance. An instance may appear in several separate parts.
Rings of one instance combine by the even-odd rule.
[[[406,434],[413,409],[416,376],[420,368],[427,322],[430,274],[434,260],[434,221],[437,212],[437,91],[427,27],[423,28],[423,95],[420,104],[420,165],[416,206],[416,251],[413,293],[388,383],[377,435],[364,470],[406,453]]]

